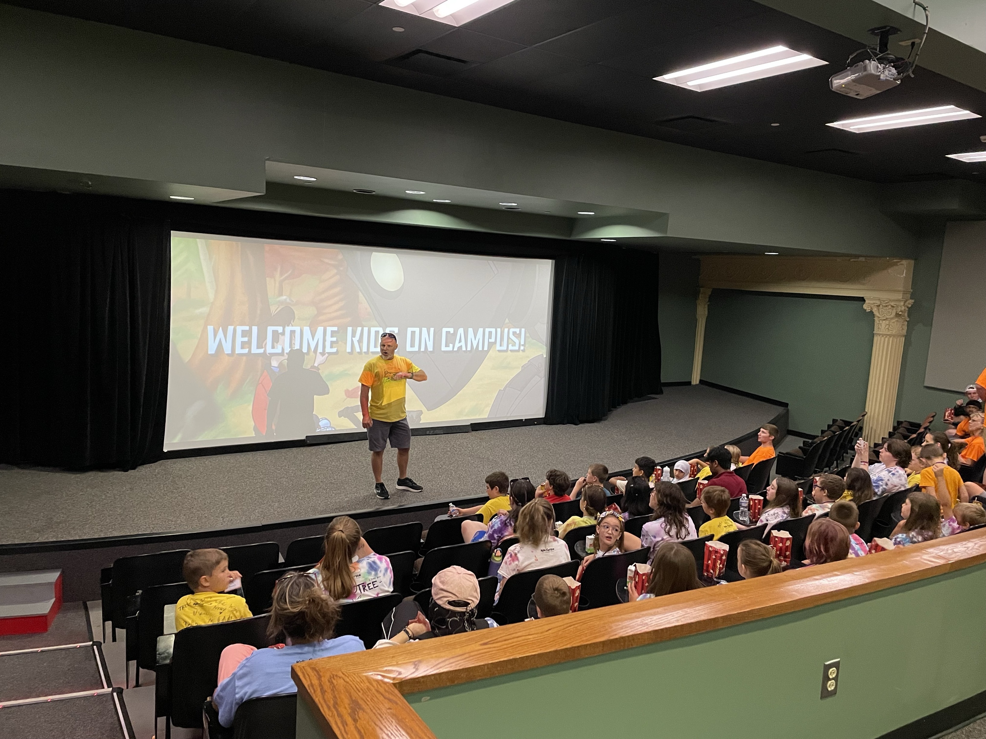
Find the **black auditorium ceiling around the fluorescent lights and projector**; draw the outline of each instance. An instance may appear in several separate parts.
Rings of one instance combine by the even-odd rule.
[[[461,28],[370,0],[11,4],[800,168],[986,182],[986,163],[946,157],[982,149],[986,118],[865,134],[825,125],[944,104],[986,115],[986,93],[919,67],[868,100],[836,95],[828,78],[862,43],[752,0],[515,0]],[[702,93],[652,79],[776,44],[828,63]],[[906,55],[894,40],[891,51]]]

